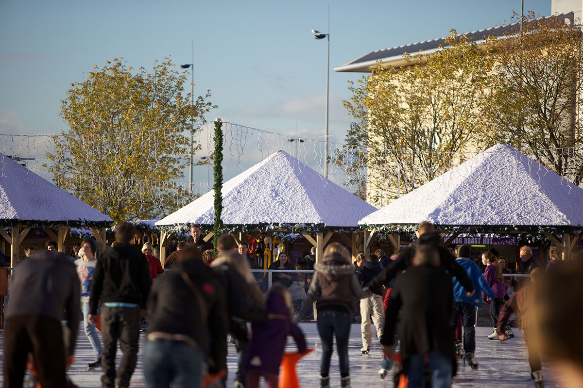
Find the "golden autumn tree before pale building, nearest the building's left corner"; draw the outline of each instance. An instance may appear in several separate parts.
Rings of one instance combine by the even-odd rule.
[[[354,119],[350,147],[336,162],[347,166],[349,184],[362,190],[364,179],[367,193],[379,193],[367,198],[371,203],[409,193],[459,162],[483,126],[479,107],[492,61],[453,30],[446,45],[430,56],[409,56],[399,69],[378,63],[350,83],[353,96],[344,101]]]

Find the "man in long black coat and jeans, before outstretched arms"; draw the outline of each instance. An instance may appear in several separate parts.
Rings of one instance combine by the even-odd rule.
[[[449,329],[453,293],[451,276],[436,268],[435,247],[420,245],[409,268],[395,279],[381,338],[385,353],[394,352],[396,319],[402,308],[399,336],[403,368],[409,386],[425,386],[424,357],[429,357],[431,386],[449,387],[455,375],[454,336]]]

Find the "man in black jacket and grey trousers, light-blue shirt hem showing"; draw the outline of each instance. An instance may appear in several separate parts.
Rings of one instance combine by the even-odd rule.
[[[97,323],[97,307],[101,301],[101,383],[104,388],[129,387],[138,361],[141,309],[145,308],[152,277],[146,257],[138,247],[130,244],[135,232],[135,227],[127,222],[115,228],[115,245],[97,258],[91,283],[88,318],[93,325]],[[122,356],[116,373],[118,340]]]

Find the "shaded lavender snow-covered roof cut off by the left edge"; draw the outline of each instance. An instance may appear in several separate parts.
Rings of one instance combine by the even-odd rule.
[[[0,225],[106,226],[113,220],[0,153]]]

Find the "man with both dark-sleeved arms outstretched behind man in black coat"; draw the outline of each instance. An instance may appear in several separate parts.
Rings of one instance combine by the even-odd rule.
[[[430,222],[424,221],[419,224],[419,232],[417,233],[419,239],[415,241],[411,247],[405,248],[391,265],[387,266],[381,273],[375,276],[374,279],[368,283],[368,287],[380,287],[382,284],[394,279],[403,270],[412,267],[415,251],[420,245],[427,244],[436,248],[440,256],[440,268],[447,270],[451,276],[455,276],[459,283],[462,284],[463,288],[468,291],[468,295],[471,295],[473,293],[473,286],[468,277],[468,273],[466,273],[461,265],[455,262],[455,257],[447,250],[447,248],[441,245],[441,239],[436,232],[435,227]]]

